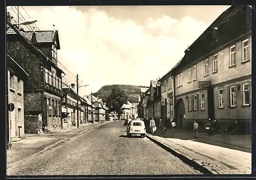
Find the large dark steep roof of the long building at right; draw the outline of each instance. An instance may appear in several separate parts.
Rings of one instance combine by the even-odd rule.
[[[249,15],[251,15],[249,6],[231,6],[228,8],[188,47],[189,50],[185,53],[182,61],[173,70],[184,68],[241,35],[250,33]],[[212,41],[214,28],[218,28],[218,37],[215,42]]]

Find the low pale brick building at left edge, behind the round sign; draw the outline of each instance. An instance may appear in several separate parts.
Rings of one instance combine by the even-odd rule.
[[[20,67],[9,55],[8,62],[8,141],[22,137],[24,131],[24,82],[28,73]]]

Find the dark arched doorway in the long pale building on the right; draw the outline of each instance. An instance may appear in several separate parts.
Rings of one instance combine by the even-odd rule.
[[[185,105],[184,102],[182,100],[182,98],[180,98],[177,102],[177,109],[176,109],[176,123],[177,123],[177,127],[178,128],[184,128],[185,125]]]

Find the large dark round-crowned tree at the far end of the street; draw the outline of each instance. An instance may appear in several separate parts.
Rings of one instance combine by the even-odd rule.
[[[118,118],[120,118],[120,108],[128,100],[128,95],[126,92],[119,87],[113,88],[111,94],[107,98],[106,106],[109,108],[110,112],[116,111],[118,113]]]

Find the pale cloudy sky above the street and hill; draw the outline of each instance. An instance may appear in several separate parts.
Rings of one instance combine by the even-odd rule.
[[[17,7],[8,11],[17,20]],[[25,10],[24,10],[24,9]],[[81,94],[104,85],[150,86],[229,6],[19,7],[35,30],[58,30],[58,67]],[[16,13],[15,13],[16,12]],[[23,27],[26,30],[26,27]],[[61,64],[60,64],[61,63]],[[65,67],[63,67],[65,66]],[[80,93],[79,93],[80,94]]]

